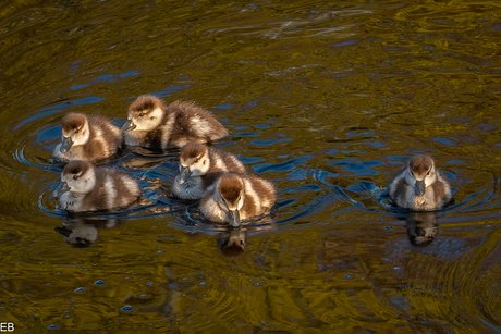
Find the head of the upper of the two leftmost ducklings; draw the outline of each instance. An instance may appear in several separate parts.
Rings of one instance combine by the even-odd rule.
[[[62,119],[61,153],[68,152],[72,146],[87,144],[90,138],[87,116],[82,113],[71,112]]]

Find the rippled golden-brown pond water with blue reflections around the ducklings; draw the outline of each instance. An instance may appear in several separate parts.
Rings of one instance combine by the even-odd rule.
[[[3,1],[0,322],[501,333],[500,30],[481,0]],[[139,180],[139,203],[59,210],[62,116],[121,125],[144,94],[210,110],[231,132],[217,145],[276,185],[276,213],[208,224],[169,195],[179,150],[142,149],[105,162]],[[391,206],[387,181],[416,153],[452,206]]]

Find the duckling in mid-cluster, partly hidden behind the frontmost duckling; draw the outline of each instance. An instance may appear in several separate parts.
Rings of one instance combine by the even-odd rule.
[[[225,172],[245,173],[246,170],[235,156],[222,149],[186,144],[180,151],[180,173],[174,177],[172,194],[182,199],[200,199]]]

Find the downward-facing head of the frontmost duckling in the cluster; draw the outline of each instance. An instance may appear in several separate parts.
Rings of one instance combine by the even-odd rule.
[[[240,210],[244,206],[245,191],[244,182],[234,173],[225,173],[217,185],[216,201],[227,212],[227,221],[233,227],[239,227]]]

